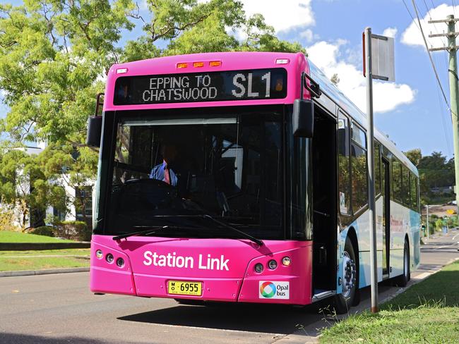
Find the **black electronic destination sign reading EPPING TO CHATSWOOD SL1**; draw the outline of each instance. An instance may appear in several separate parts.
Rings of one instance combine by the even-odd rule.
[[[126,76],[115,82],[114,105],[282,99],[284,68]]]

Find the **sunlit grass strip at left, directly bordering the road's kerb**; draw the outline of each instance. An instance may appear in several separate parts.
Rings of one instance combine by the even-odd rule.
[[[89,257],[89,249],[0,251],[0,271],[85,267],[89,266]]]

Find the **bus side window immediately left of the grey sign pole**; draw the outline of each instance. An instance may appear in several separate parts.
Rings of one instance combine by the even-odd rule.
[[[352,212],[355,214],[368,202],[368,177],[366,175],[365,133],[352,125],[351,171],[352,171]],[[358,142],[356,140],[358,140]],[[362,146],[360,145],[362,143]]]

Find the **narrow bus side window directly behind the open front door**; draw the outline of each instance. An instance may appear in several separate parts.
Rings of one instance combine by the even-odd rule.
[[[349,121],[344,116],[340,116],[338,119],[338,188],[341,214],[350,214],[349,159]]]

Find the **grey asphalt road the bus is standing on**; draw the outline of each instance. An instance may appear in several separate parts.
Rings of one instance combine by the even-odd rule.
[[[413,280],[459,257],[458,241],[451,231],[423,245]],[[304,343],[306,333],[333,321],[321,305],[184,306],[93,295],[88,284],[88,273],[0,278],[0,343]],[[397,290],[380,285],[380,300]],[[368,303],[365,288],[357,309]]]

